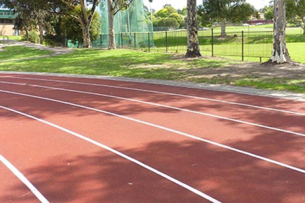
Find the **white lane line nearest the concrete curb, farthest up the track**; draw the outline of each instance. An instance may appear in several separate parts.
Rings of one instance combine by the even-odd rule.
[[[261,106],[256,106],[256,105],[248,105],[248,104],[236,103],[236,102],[233,102],[233,101],[226,101],[226,100],[220,100],[220,99],[212,99],[212,98],[206,98],[206,97],[191,96],[191,95],[177,94],[177,93],[170,93],[170,92],[163,92],[163,91],[154,91],[154,90],[147,90],[147,89],[138,89],[138,88],[131,88],[131,87],[121,87],[121,86],[114,86],[114,85],[103,85],[103,84],[97,84],[97,83],[72,82],[72,81],[64,81],[64,80],[50,80],[50,79],[39,79],[39,78],[10,77],[10,76],[0,76],[0,78],[15,78],[15,79],[24,79],[24,80],[39,80],[39,81],[50,81],[50,82],[61,82],[61,83],[71,83],[71,84],[80,84],[80,85],[110,87],[110,88],[117,88],[117,89],[128,89],[128,90],[135,90],[135,91],[142,91],[142,92],[166,94],[166,95],[172,95],[172,96],[182,96],[182,97],[188,97],[188,98],[196,98],[196,99],[201,99],[201,100],[215,101],[215,102],[218,102],[218,103],[225,103],[225,104],[231,104],[231,105],[238,105],[238,106],[244,106],[244,107],[250,107],[250,108],[256,108],[256,109],[264,109],[264,110],[270,110],[270,111],[276,111],[276,112],[282,112],[282,113],[296,114],[296,115],[300,115],[300,116],[305,116],[305,113],[300,113],[300,112],[281,110],[281,109],[275,109],[275,108],[268,108],[268,107],[261,107]],[[215,90],[211,90],[211,91],[215,91]],[[255,96],[261,96],[261,95],[255,95]],[[277,98],[277,97],[275,97],[275,98]]]

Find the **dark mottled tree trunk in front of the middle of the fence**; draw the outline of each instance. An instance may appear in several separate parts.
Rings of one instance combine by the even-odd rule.
[[[188,0],[188,51],[186,57],[200,57],[196,0]]]

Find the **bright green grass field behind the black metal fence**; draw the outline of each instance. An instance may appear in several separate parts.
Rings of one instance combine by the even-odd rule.
[[[268,59],[272,52],[273,41],[273,24],[268,25],[252,25],[249,27],[244,26],[227,26],[227,37],[220,37],[220,28],[214,28],[214,55],[223,56],[233,59],[241,59],[242,53],[242,36],[241,31],[245,31],[244,40],[244,55],[245,60],[262,61]],[[265,33],[255,31],[269,31]],[[300,27],[287,28],[287,44],[291,57],[298,62],[305,63],[305,58],[302,57],[302,46],[305,47],[305,35],[302,35],[303,30]],[[198,33],[200,50],[204,55],[211,55],[211,30],[200,30]],[[169,52],[186,52],[187,50],[187,31],[168,31],[167,42],[165,32],[154,32],[153,45],[150,50],[165,52],[166,43]],[[142,50],[147,50],[147,44],[141,47]],[[133,47],[130,47],[133,48]],[[300,51],[301,50],[301,51]]]

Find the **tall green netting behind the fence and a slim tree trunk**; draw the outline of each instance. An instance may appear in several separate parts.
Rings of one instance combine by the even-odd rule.
[[[107,0],[102,0],[98,7],[102,31],[100,38],[93,42],[95,48],[108,47],[107,4]],[[148,43],[153,46],[153,27],[146,15],[143,0],[134,0],[127,9],[121,10],[115,15],[114,32],[117,48],[141,48],[147,47]],[[139,35],[138,33],[142,34]]]

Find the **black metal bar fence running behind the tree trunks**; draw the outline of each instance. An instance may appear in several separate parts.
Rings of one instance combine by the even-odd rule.
[[[272,31],[227,32],[223,36],[211,30],[199,30],[198,39],[201,52],[211,56],[236,56],[268,58],[271,56]],[[128,48],[158,52],[186,52],[187,31],[160,31],[119,33],[115,35],[117,48]],[[95,48],[107,48],[108,35],[101,35],[93,42]]]

